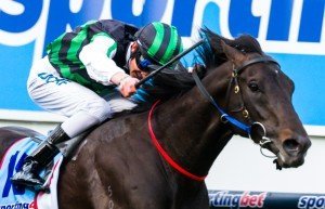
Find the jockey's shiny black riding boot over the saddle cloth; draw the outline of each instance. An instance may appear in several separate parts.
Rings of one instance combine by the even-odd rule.
[[[60,153],[55,144],[69,140],[61,126],[56,127],[46,141],[26,157],[23,168],[16,172],[11,182],[17,185],[38,187],[44,184],[44,180],[39,177],[39,171],[48,166],[52,159]]]

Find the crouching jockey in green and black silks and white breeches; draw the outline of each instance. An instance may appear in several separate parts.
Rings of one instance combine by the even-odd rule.
[[[56,145],[136,106],[128,97],[150,74],[182,51],[177,28],[154,22],[141,29],[103,19],[65,32],[47,48],[47,56],[30,70],[27,89],[40,107],[67,117],[30,156],[12,183],[41,186],[39,171],[57,154]]]

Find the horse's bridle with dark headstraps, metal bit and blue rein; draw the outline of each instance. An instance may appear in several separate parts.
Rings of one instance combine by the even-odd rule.
[[[236,94],[238,94],[240,92],[240,88],[238,84],[238,77],[240,76],[240,74],[250,65],[253,64],[258,64],[258,63],[265,63],[265,64],[276,64],[280,67],[280,64],[274,61],[273,58],[269,57],[269,56],[261,56],[261,57],[256,57],[249,61],[244,62],[239,67],[235,68],[233,67],[233,71],[232,71],[232,79],[230,81],[230,86],[232,86],[232,83],[235,83],[235,88],[234,88],[234,92]],[[257,130],[260,129],[262,131],[261,138],[259,139],[259,145],[260,145],[260,151],[261,154],[265,157],[272,157],[272,158],[276,158],[276,156],[269,156],[265,155],[262,151],[262,148],[265,148],[266,144],[271,144],[273,143],[272,140],[270,138],[268,138],[268,133],[266,133],[266,129],[265,127],[259,122],[259,121],[251,121],[250,125],[246,125],[243,121],[239,121],[238,119],[232,117],[231,115],[229,115],[227,113],[225,113],[219,105],[218,103],[214,101],[214,99],[209,94],[209,92],[206,90],[206,88],[203,86],[199,77],[196,74],[196,70],[193,70],[192,73],[193,78],[195,80],[195,83],[197,86],[197,88],[199,89],[200,93],[217,108],[217,110],[220,114],[220,120],[224,123],[230,123],[235,128],[240,129],[242,131],[244,131],[250,139],[252,139],[252,130]],[[229,88],[230,89],[230,88]],[[227,95],[229,93],[226,93]],[[245,103],[243,100],[243,95],[240,94],[240,100],[243,103],[243,116],[245,118],[249,117],[249,113],[248,110],[245,108]]]

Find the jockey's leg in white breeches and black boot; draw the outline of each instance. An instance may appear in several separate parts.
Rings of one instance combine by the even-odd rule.
[[[43,180],[39,177],[38,171],[58,153],[55,146],[57,143],[103,122],[115,113],[136,106],[121,97],[119,91],[103,99],[79,83],[61,78],[47,57],[32,66],[27,87],[28,93],[36,104],[68,118],[26,158],[22,171],[12,178],[12,182],[17,184],[31,186],[42,184]]]

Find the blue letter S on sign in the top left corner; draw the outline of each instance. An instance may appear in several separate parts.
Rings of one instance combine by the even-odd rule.
[[[42,0],[15,0],[15,3],[24,6],[22,14],[12,15],[0,11],[0,29],[4,31],[22,32],[28,30],[37,23],[42,12]]]

